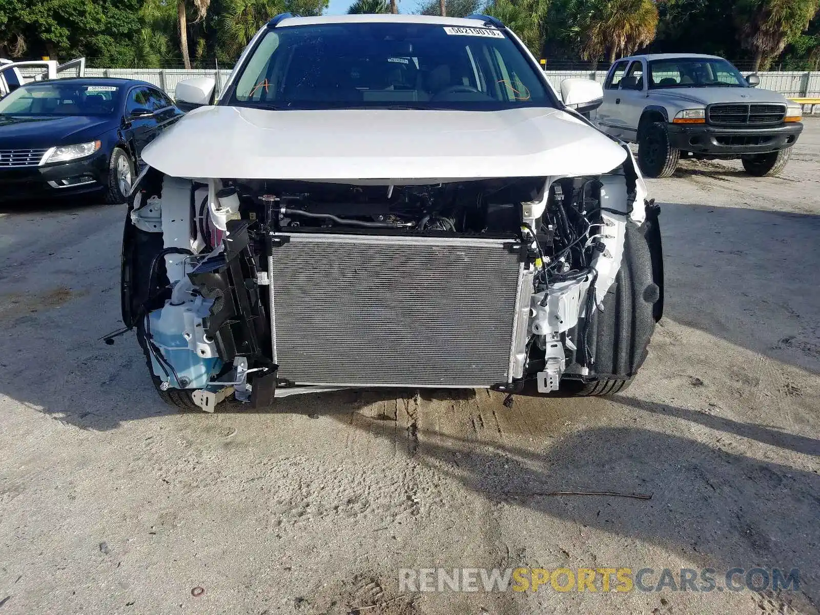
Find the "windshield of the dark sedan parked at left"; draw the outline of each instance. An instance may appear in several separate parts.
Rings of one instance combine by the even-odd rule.
[[[76,83],[28,84],[0,100],[0,115],[109,116],[116,107],[115,85]]]

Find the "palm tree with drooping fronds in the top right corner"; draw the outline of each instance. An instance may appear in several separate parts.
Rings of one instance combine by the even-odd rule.
[[[768,67],[809,27],[818,0],[741,0],[735,7],[740,45],[754,53],[753,70]]]

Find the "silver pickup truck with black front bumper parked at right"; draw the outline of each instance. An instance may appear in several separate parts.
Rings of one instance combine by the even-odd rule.
[[[717,56],[624,57],[609,69],[604,103],[590,119],[638,144],[645,177],[672,175],[681,157],[740,158],[749,175],[777,175],[803,130],[801,108],[755,89],[759,83]]]

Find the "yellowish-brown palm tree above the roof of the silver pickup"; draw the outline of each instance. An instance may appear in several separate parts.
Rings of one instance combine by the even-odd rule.
[[[581,57],[609,62],[628,56],[655,38],[658,9],[652,0],[590,0],[574,3],[572,20],[581,39]]]

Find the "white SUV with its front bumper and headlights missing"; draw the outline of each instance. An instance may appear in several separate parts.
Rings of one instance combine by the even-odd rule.
[[[144,149],[122,313],[168,403],[622,389],[663,311],[629,149],[499,21],[278,16]]]

